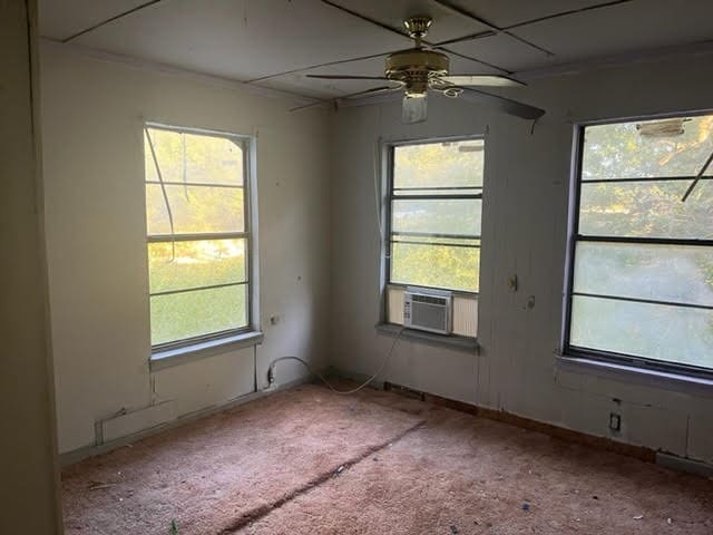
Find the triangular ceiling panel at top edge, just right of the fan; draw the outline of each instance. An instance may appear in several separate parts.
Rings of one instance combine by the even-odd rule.
[[[450,0],[453,6],[487,20],[491,25],[506,28],[527,20],[549,17],[565,11],[573,11],[598,6],[605,0]]]

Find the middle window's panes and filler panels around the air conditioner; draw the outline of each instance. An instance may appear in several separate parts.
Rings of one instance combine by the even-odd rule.
[[[406,286],[451,290],[455,332],[476,335],[484,148],[482,139],[389,147],[389,322],[402,322]]]

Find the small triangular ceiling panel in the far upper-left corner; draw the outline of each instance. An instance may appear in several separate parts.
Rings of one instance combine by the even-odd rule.
[[[146,0],[39,0],[40,35],[62,40],[141,3]]]

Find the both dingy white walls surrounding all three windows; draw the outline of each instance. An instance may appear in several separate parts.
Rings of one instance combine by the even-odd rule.
[[[572,121],[713,108],[709,64],[710,56],[701,56],[534,81],[512,91],[548,110],[530,135],[529,123],[437,99],[424,125],[401,125],[398,104],[384,104],[342,109],[330,128],[321,111],[289,114],[290,99],[45,47],[43,165],[61,451],[92,445],[95,424],[121,409],[173,400],[170,417],[177,417],[250,392],[254,359],[261,386],[268,362],[282,354],[320,366],[329,352],[329,363],[371,373],[391,343],[373,328],[380,315],[374,144],[380,136],[485,134],[480,354],[401,341],[385,379],[599,436],[608,436],[608,412],[616,410],[623,430],[613,438],[713,463],[710,391],[555,366]],[[149,371],[144,119],[258,134],[265,343],[256,350]],[[507,288],[510,274],[518,275],[517,293]],[[530,295],[536,304],[527,310]],[[270,325],[271,315],[281,321]],[[302,373],[283,363],[280,381]],[[155,417],[147,415],[144,427]]]

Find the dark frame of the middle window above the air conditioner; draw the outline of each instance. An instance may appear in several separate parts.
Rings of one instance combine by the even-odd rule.
[[[401,288],[406,290],[407,288],[423,288],[429,290],[439,290],[452,293],[452,295],[462,295],[466,298],[475,298],[479,300],[480,292],[469,292],[467,290],[457,290],[451,288],[441,288],[441,286],[422,286],[418,284],[409,284],[403,282],[392,282],[391,281],[391,254],[392,254],[392,241],[391,241],[391,216],[392,216],[392,203],[394,198],[406,198],[409,196],[406,195],[394,195],[393,194],[393,179],[394,179],[394,149],[397,147],[403,146],[414,146],[414,145],[431,145],[437,143],[456,143],[456,142],[476,142],[480,140],[484,143],[484,153],[485,153],[485,135],[463,135],[463,136],[448,136],[448,137],[427,137],[427,138],[417,138],[417,139],[399,139],[399,140],[388,140],[382,142],[382,166],[381,166],[381,176],[385,177],[383,181],[383,186],[381,191],[381,221],[382,221],[382,236],[381,236],[381,259],[382,259],[382,274],[381,274],[381,295],[382,295],[382,305],[381,305],[381,314],[382,322],[388,322],[388,302],[385,299],[387,291],[389,288]],[[433,188],[430,188],[433,189]],[[485,191],[485,169],[484,169],[484,184],[482,186],[470,187],[469,189],[480,189],[480,193],[477,195],[469,195],[468,198],[479,198],[482,203],[482,192]],[[418,198],[465,198],[465,197],[451,197],[445,195],[418,195]],[[416,198],[416,197],[414,197]],[[478,240],[480,241],[479,245],[472,246],[472,249],[482,250],[482,211],[481,211],[481,228],[480,236]],[[480,260],[478,261],[480,263]],[[480,276],[480,270],[478,271]],[[478,281],[478,289],[480,289],[480,281]]]

